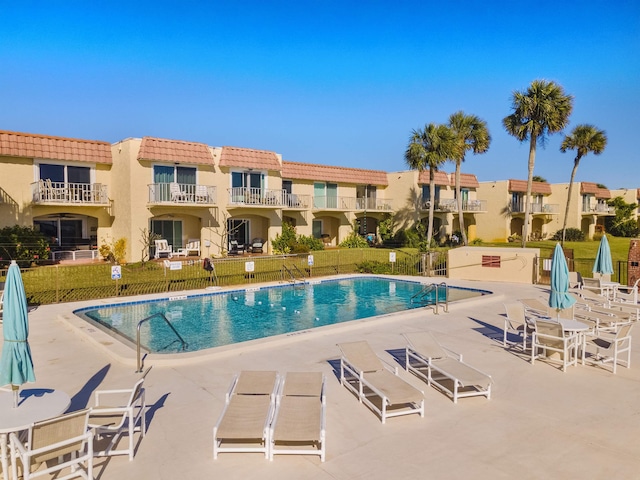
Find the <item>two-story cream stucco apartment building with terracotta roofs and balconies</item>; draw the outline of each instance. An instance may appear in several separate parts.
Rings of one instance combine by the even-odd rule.
[[[436,172],[434,233],[460,229],[453,174]],[[566,184],[534,183],[532,238],[561,228]],[[461,176],[470,240],[506,241],[524,222],[526,181],[479,183]],[[576,183],[569,226],[592,235],[615,212],[606,201],[638,201],[640,190]],[[0,131],[0,227],[36,226],[59,250],[90,250],[127,239],[128,261],[145,252],[145,231],[174,251],[200,240],[201,255],[224,255],[229,242],[271,240],[283,222],[336,246],[354,228],[375,237],[393,214],[396,228],[425,222],[429,173],[384,172],[286,161],[280,154],[144,137],[98,140]]]

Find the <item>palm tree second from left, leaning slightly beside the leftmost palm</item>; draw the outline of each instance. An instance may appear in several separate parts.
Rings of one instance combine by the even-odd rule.
[[[474,154],[485,153],[489,149],[491,136],[487,123],[475,115],[465,115],[464,112],[456,112],[449,117],[449,128],[456,136],[458,142],[458,155],[451,160],[456,164],[456,201],[458,207],[458,221],[462,234],[462,243],[467,245],[467,232],[464,228],[464,215],[462,213],[462,195],[460,193],[460,166],[468,150]]]

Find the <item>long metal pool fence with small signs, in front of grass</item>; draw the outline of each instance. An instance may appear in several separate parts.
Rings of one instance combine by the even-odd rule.
[[[263,282],[299,284],[314,277],[349,273],[446,276],[446,254],[408,253],[377,248],[314,251],[300,255],[161,259],[115,265],[60,264],[23,268],[30,305],[78,302],[164,292],[182,292]],[[204,268],[204,267],[207,268]],[[114,274],[117,272],[117,274]],[[0,270],[0,282],[6,269]]]

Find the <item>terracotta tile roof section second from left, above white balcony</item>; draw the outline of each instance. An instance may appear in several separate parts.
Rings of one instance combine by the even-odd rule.
[[[200,165],[213,164],[213,156],[204,143],[144,137],[138,152],[138,160],[180,162]]]

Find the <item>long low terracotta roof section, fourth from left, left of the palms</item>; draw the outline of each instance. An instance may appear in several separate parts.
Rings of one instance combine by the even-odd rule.
[[[332,167],[300,162],[282,162],[282,178],[323,180],[356,185],[388,185],[386,172],[362,168]]]

